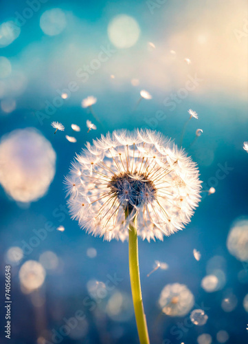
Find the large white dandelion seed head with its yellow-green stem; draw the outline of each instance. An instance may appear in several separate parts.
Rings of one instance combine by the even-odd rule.
[[[137,237],[160,239],[190,222],[199,203],[196,164],[161,133],[107,133],[87,143],[71,168],[69,212],[88,233],[129,237],[129,268],[139,338],[148,343],[139,281]],[[80,175],[78,175],[78,168]]]

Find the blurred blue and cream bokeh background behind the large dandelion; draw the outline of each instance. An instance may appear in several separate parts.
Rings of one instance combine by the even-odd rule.
[[[80,230],[63,180],[107,131],[146,127],[179,144],[188,109],[199,120],[183,147],[216,192],[185,230],[139,240],[150,341],[248,343],[247,43],[245,0],[1,2],[0,343],[138,343],[128,243]],[[159,303],[174,283],[187,287],[168,287],[174,303],[190,293],[180,316]]]

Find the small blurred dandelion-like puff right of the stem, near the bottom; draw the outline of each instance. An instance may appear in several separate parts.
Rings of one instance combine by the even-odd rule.
[[[166,315],[183,316],[194,305],[194,295],[183,284],[168,284],[161,291],[159,306]]]

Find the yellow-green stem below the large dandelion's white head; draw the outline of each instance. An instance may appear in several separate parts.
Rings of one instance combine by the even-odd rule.
[[[133,307],[135,309],[135,319],[139,334],[139,342],[140,344],[149,344],[150,341],[146,324],[146,314],[144,314],[142,289],[139,279],[139,255],[136,217],[135,219],[133,219],[133,224],[129,225],[129,273],[133,296]]]

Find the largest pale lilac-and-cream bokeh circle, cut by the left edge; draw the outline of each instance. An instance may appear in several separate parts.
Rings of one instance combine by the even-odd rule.
[[[0,183],[14,200],[41,198],[54,179],[56,153],[35,129],[19,129],[0,142]]]

